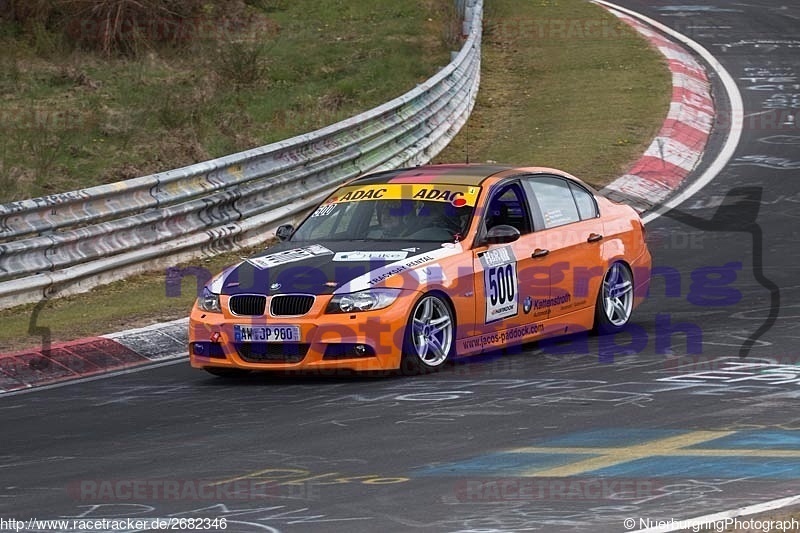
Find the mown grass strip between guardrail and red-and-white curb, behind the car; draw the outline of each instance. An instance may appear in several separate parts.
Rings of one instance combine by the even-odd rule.
[[[672,93],[663,56],[583,0],[487,2],[481,90],[437,161],[549,166],[601,187],[650,144]]]

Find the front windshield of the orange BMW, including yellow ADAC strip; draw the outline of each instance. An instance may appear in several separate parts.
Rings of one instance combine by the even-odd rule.
[[[469,228],[479,192],[464,185],[350,185],[325,200],[292,241],[457,241]]]

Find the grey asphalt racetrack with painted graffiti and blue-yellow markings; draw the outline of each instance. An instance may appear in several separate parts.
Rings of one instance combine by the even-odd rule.
[[[8,396],[0,518],[617,532],[800,494],[800,6],[620,3],[711,52],[745,115],[716,178],[649,222],[656,272],[628,333],[415,378],[180,363]],[[731,121],[714,89],[705,165]]]

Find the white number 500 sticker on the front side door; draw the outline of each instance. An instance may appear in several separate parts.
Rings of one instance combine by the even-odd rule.
[[[486,323],[517,314],[517,259],[510,246],[488,250],[481,257],[486,295]]]

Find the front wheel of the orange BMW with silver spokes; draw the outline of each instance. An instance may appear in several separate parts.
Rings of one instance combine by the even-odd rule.
[[[444,366],[455,347],[455,314],[436,294],[425,294],[411,310],[403,338],[403,374],[433,372]]]

